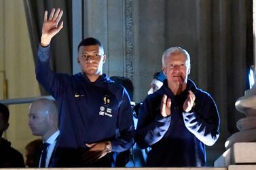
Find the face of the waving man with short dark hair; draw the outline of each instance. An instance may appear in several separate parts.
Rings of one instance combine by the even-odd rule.
[[[99,45],[79,47],[77,62],[81,66],[81,72],[86,75],[102,75],[103,63],[106,56]]]

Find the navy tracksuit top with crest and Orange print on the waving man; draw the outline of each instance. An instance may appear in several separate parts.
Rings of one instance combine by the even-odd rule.
[[[35,72],[37,81],[54,97],[59,109],[59,158],[56,160],[60,159],[57,161],[60,165],[56,166],[83,166],[77,160],[88,149],[86,144],[94,142],[110,140],[111,155],[131,148],[134,123],[126,89],[105,74],[90,82],[81,73],[56,73],[50,69],[49,52],[50,45],[39,45]],[[113,167],[115,158],[108,158],[107,162]]]

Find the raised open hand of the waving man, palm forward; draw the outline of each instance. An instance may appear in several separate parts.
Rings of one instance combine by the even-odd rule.
[[[52,12],[48,18],[48,11],[44,13],[44,21],[41,35],[41,45],[48,46],[50,41],[54,35],[56,35],[63,28],[63,21],[60,22],[60,18],[62,17],[63,11],[60,8],[52,9]],[[58,23],[60,22],[60,24]]]

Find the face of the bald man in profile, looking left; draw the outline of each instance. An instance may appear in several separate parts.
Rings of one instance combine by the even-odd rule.
[[[29,108],[29,127],[33,135],[45,135],[50,127],[49,114],[32,105]]]

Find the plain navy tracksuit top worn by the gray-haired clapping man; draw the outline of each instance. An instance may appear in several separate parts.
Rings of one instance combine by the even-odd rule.
[[[188,91],[196,95],[194,106],[183,111]],[[160,105],[163,95],[171,100],[171,114],[163,117]],[[139,110],[135,141],[141,148],[151,146],[149,167],[206,166],[205,144],[212,146],[219,137],[219,113],[211,95],[187,80],[187,88],[174,95],[167,80],[155,93],[148,95]]]

